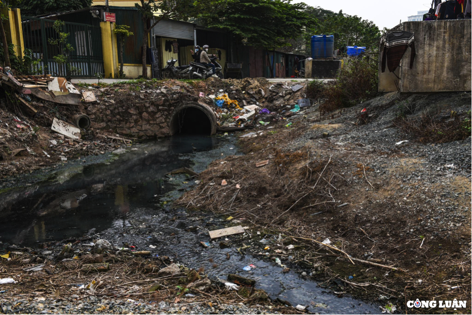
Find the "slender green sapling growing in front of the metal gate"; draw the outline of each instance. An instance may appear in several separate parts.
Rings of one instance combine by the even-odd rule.
[[[49,38],[48,42],[51,45],[57,46],[59,54],[54,56],[53,59],[60,66],[60,68],[62,68],[62,66],[66,67],[66,78],[67,81],[70,81],[70,76],[74,73],[80,73],[82,69],[70,65],[69,55],[70,52],[74,51],[74,47],[67,43],[67,38],[69,37],[70,33],[62,32],[64,25],[64,21],[61,20],[56,20],[54,22],[53,29],[56,31],[57,37],[55,39]]]

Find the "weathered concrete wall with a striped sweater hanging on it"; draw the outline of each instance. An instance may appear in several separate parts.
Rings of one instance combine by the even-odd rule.
[[[443,20],[404,22],[414,34],[416,57],[409,68],[410,49],[402,58],[398,80],[379,71],[379,91],[446,92],[471,90],[471,22]],[[380,62],[380,60],[379,60]]]

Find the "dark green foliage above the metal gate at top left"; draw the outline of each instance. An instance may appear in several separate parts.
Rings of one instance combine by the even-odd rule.
[[[23,15],[38,16],[88,8],[93,0],[22,0],[19,8]]]

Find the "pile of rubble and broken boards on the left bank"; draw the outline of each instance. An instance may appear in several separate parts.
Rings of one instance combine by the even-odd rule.
[[[6,91],[0,106],[0,179],[130,143],[93,130],[81,112],[95,94],[79,91],[65,78],[14,76],[0,68],[0,82]]]

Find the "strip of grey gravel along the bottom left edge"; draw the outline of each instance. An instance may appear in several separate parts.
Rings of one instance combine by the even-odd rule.
[[[77,296],[78,297],[78,296]],[[171,307],[167,302],[148,303],[145,301],[100,299],[88,297],[70,298],[36,298],[36,299],[0,299],[0,312],[6,314],[269,314],[274,313],[262,306],[248,307],[243,304],[191,304]]]

